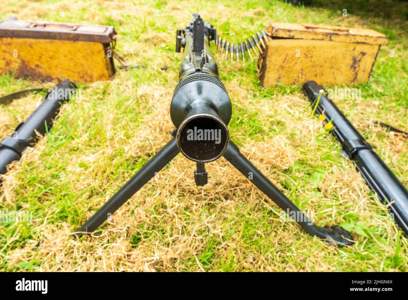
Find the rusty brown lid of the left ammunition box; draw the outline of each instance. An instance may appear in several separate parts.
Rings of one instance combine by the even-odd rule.
[[[111,43],[116,39],[116,31],[113,26],[0,20],[0,38],[38,38]]]

